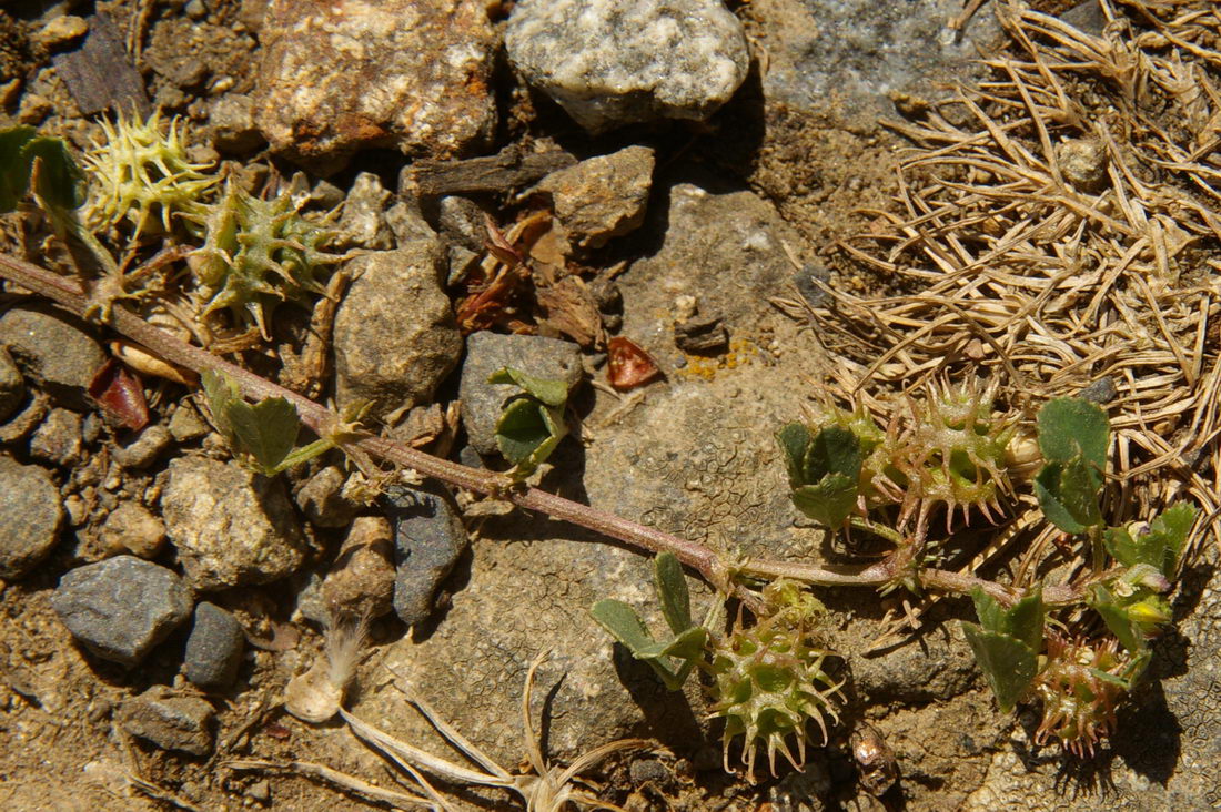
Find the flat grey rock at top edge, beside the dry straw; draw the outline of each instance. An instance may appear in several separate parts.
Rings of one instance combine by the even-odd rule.
[[[768,54],[768,104],[872,127],[894,115],[891,94],[962,81],[1000,29],[987,5],[956,37],[958,0],[773,0],[751,9]]]

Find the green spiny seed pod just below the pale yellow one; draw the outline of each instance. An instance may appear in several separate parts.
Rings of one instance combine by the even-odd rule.
[[[322,292],[316,274],[343,260],[321,247],[331,233],[304,220],[287,194],[259,200],[232,183],[199,216],[204,245],[188,256],[208,300],[203,315],[227,308],[239,324],[267,337],[270,310],[305,291]]]

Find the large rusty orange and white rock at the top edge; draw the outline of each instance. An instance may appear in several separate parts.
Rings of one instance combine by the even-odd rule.
[[[446,158],[488,139],[493,34],[477,0],[272,0],[255,121],[272,150]]]

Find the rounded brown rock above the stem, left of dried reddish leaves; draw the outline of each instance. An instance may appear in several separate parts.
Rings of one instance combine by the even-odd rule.
[[[441,289],[444,252],[436,241],[366,254],[335,319],[336,399],[372,403],[375,415],[432,399],[458,363],[462,336]]]

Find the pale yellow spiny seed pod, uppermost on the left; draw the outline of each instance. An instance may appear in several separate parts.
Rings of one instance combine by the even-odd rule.
[[[161,114],[148,121],[118,116],[101,121],[103,140],[84,156],[96,192],[85,211],[92,228],[122,220],[139,236],[151,227],[170,231],[177,214],[198,211],[200,200],[216,184],[211,165],[187,160],[177,118],[161,131]]]

